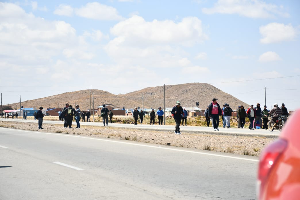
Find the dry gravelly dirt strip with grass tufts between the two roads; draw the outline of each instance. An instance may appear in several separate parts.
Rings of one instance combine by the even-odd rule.
[[[137,130],[110,126],[84,126],[80,129],[64,128],[60,124],[43,124],[44,129],[38,129],[37,123],[0,121],[0,127],[33,130],[38,132],[73,134],[91,137],[104,137],[136,142],[146,142],[158,145],[171,145],[192,149],[204,149],[241,155],[259,156],[262,149],[276,139],[276,136],[225,136],[217,134],[202,134],[184,132],[176,135],[170,131]]]

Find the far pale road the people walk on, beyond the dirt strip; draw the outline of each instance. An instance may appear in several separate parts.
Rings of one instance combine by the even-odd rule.
[[[35,122],[38,123],[38,120],[22,120],[22,119],[0,119],[0,121],[18,121],[18,122]],[[43,124],[64,124],[63,121],[47,121],[44,120]],[[102,122],[82,122],[80,121],[80,125],[92,125],[92,126],[103,126]],[[63,126],[63,125],[62,125]],[[76,127],[76,122],[72,122],[72,126]],[[112,127],[122,127],[122,128],[136,128],[136,129],[146,129],[146,130],[170,130],[171,132],[174,132],[175,126],[173,125],[150,125],[150,124],[117,124],[112,123],[108,124],[108,126]],[[226,135],[247,135],[247,136],[279,136],[280,131],[274,130],[264,130],[264,129],[255,129],[255,130],[249,130],[248,128],[240,129],[240,128],[223,128],[219,127],[220,131],[214,131],[213,127],[196,127],[196,126],[180,126],[180,132],[184,133],[187,132],[195,132],[195,133],[218,133],[218,134],[226,134]]]

